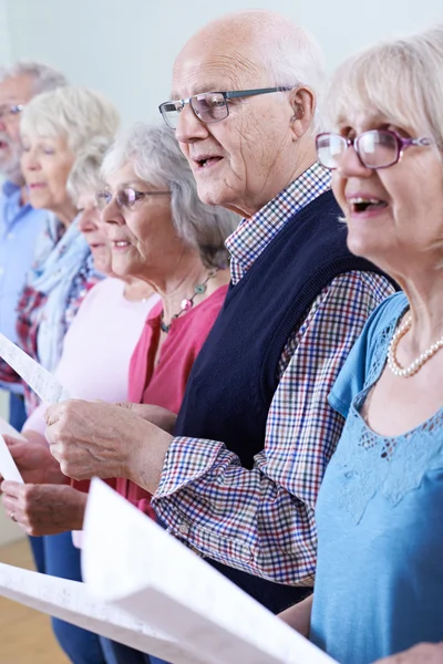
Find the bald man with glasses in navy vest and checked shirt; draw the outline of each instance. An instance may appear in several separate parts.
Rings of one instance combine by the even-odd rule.
[[[225,305],[173,435],[153,424],[154,408],[48,411],[64,473],[131,477],[176,537],[275,612],[312,585],[313,510],[343,425],[328,394],[393,292],[349,253],[329,172],[316,160],[322,81],[311,38],[272,12],[229,14],[187,42],[159,111],[202,200],[243,217],[227,240]]]

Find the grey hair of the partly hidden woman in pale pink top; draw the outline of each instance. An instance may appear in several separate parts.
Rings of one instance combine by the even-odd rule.
[[[95,194],[103,188],[101,167],[112,142],[110,136],[94,136],[78,154],[66,183],[68,193],[74,203],[83,194]]]

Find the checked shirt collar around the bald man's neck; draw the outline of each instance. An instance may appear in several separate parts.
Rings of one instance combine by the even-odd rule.
[[[316,163],[227,238],[233,283],[237,283],[295,214],[330,188],[330,172]]]

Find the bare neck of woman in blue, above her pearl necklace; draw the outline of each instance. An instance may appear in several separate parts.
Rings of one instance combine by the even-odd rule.
[[[420,353],[443,335],[443,268],[422,272],[416,279],[395,278],[408,297],[412,326],[409,344]]]

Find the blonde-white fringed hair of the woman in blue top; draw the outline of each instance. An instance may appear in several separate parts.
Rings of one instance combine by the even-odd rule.
[[[373,108],[443,149],[443,24],[381,42],[347,60],[327,94],[333,125],[349,108]]]

